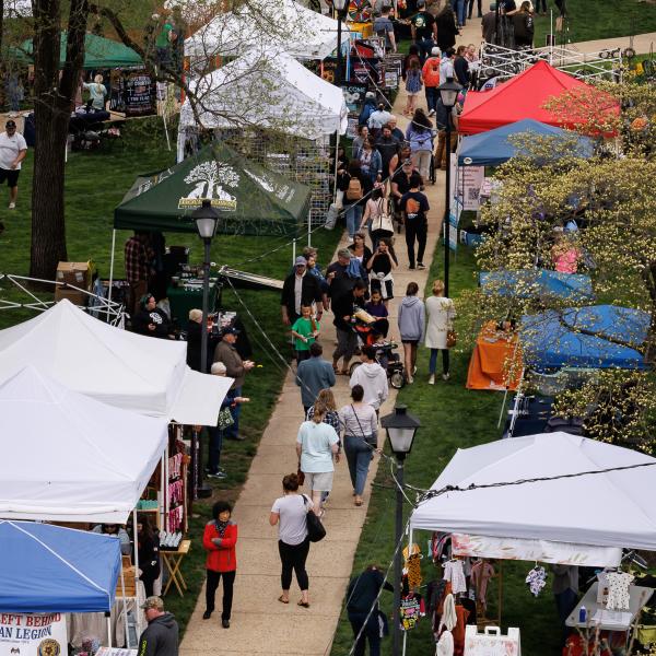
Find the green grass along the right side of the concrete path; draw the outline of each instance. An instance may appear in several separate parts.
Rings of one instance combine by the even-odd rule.
[[[441,273],[442,253],[436,255],[431,267],[429,280]],[[452,289],[456,300],[458,293],[475,284],[475,262],[466,248],[458,250],[457,262],[453,267]],[[457,307],[457,305],[456,305]],[[491,442],[500,437],[496,429],[502,395],[489,391],[470,391],[465,388],[469,353],[452,352],[452,379],[448,383],[438,380],[433,387],[427,379],[427,350],[421,349],[418,363],[418,375],[412,386],[400,393],[399,402],[407,403],[410,412],[417,414],[422,427],[415,438],[412,453],[406,460],[406,482],[418,488],[427,489],[437,478],[440,471],[453,457],[457,448],[465,448]],[[354,572],[362,571],[370,563],[378,563],[385,570],[394,551],[394,513],[395,491],[389,476],[389,467],[383,462],[376,477],[367,519],[360,539],[354,560]],[[410,508],[406,507],[408,515]],[[414,535],[414,541],[426,553],[429,532]],[[524,578],[532,563],[503,563],[503,614],[502,626],[519,626],[522,629],[523,652],[531,656],[548,656],[558,653],[559,630],[550,586],[544,588],[537,599],[529,594]],[[422,561],[424,583],[441,578],[441,574],[432,562]],[[495,586],[492,584],[488,599],[489,617],[495,608]],[[391,617],[391,593],[383,593],[383,609]],[[342,617],[336,633],[332,655],[347,654],[352,644],[352,632],[345,618]],[[432,654],[434,646],[427,620],[420,622],[408,637],[409,656]],[[391,654],[391,639],[384,641],[383,653]]]

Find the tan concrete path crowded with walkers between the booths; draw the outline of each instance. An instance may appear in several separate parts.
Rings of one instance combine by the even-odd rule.
[[[466,42],[468,43],[468,42]],[[399,127],[405,130],[401,112],[406,104],[401,92],[395,104]],[[425,108],[425,107],[424,107]],[[436,185],[426,186],[431,204],[429,213],[429,243],[424,262],[433,258],[443,214],[444,174],[438,174]],[[345,241],[342,239],[342,245]],[[402,298],[406,285],[417,281],[420,288],[426,283],[426,271],[410,271],[403,235],[397,235],[396,253],[399,268],[395,272],[397,298],[390,304],[391,335],[398,339],[396,326],[397,303]],[[324,265],[333,261],[332,254],[320,253]],[[257,309],[254,308],[257,316]],[[328,358],[333,349],[335,329],[332,315],[325,315],[321,342]],[[402,351],[401,351],[402,353]],[[426,375],[420,372],[419,376]],[[248,391],[246,384],[245,391]],[[345,376],[338,376],[335,388],[338,407],[348,401],[349,386]],[[394,407],[393,390],[382,413]],[[309,550],[307,571],[312,607],[296,606],[300,593],[294,581],[291,602],[277,601],[280,595],[280,561],[278,557],[277,529],[268,523],[273,500],[281,495],[281,481],[285,473],[296,470],[295,440],[303,419],[298,388],[288,374],[276,410],[262,435],[257,454],[250,466],[248,479],[237,500],[234,519],[239,527],[237,546],[237,576],[235,599],[230,630],[221,628],[221,590],[216,598],[218,611],[211,620],[201,619],[204,610],[204,589],[187,628],[180,646],[184,656],[210,656],[214,654],[267,654],[267,656],[325,656],[330,652],[332,636],[341,611],[347,584],[351,575],[353,555],[366,517],[370,483],[373,480],[378,457],[372,462],[370,480],[365,489],[365,503],[356,508],[351,496],[352,488],[345,460],[336,467],[335,485],[324,518],[327,537]],[[200,549],[199,536],[194,536],[194,549]]]

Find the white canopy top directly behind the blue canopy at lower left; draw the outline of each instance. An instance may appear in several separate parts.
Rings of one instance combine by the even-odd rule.
[[[0,384],[0,517],[125,524],[160,462],[164,419],[71,391],[35,367]]]

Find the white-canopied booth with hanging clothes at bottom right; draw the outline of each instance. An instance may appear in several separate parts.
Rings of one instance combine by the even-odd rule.
[[[593,633],[595,626],[610,630],[609,640],[625,645],[637,613],[654,589],[639,582],[634,585],[633,576],[622,573],[622,549],[656,550],[656,511],[645,494],[655,484],[655,458],[565,433],[458,449],[412,512],[409,542],[423,541],[423,536],[417,534],[420,529],[432,531],[431,555],[444,567],[443,577],[450,583],[456,604],[467,608],[473,600],[477,609],[483,611],[483,617],[479,613],[475,620],[479,629],[487,624],[481,576],[485,585],[491,577],[499,577],[504,560],[528,561],[527,602],[529,595],[538,596],[552,577],[539,563],[560,565],[561,571],[565,565],[606,569],[600,576],[608,581],[614,577],[613,582],[625,587],[625,609],[623,599],[622,607],[616,608],[608,595],[604,596],[601,583],[595,582],[566,624],[591,628]],[[443,555],[445,540],[450,548]],[[490,559],[494,559],[493,565]],[[466,562],[470,574],[462,574]],[[473,599],[465,576],[470,577]],[[432,607],[442,612],[437,601]],[[501,593],[496,604],[500,620]],[[575,605],[573,600],[572,607]],[[445,616],[442,618],[444,621]],[[453,640],[459,641],[456,647],[460,651],[456,653],[465,656],[518,655],[520,631],[531,630],[530,625],[508,629],[506,635],[497,628],[488,628],[485,633],[477,633],[476,625],[467,626],[465,632],[459,624],[458,612],[457,622],[455,618],[453,622]],[[554,626],[557,635],[561,630]]]

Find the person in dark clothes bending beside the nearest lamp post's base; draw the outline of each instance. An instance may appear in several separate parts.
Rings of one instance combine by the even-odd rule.
[[[380,653],[380,629],[378,625],[378,593],[380,588],[394,591],[389,583],[385,581],[383,572],[376,565],[370,565],[362,574],[351,578],[347,591],[347,612],[353,629],[353,637],[362,631],[355,643],[354,654],[364,656],[366,640],[370,641],[370,654]],[[366,619],[373,608],[368,620]],[[366,621],[366,624],[365,624]],[[364,626],[364,629],[363,629]]]

